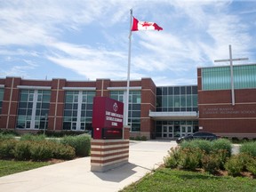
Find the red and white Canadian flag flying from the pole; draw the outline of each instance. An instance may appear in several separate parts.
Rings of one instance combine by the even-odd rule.
[[[140,21],[133,17],[132,31],[137,30],[163,30],[154,22]]]

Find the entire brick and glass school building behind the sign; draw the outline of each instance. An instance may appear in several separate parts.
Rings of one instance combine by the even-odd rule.
[[[256,64],[197,68],[197,84],[130,82],[131,136],[174,139],[192,132],[256,138]],[[0,129],[16,132],[92,130],[93,97],[126,102],[126,81],[0,78]]]

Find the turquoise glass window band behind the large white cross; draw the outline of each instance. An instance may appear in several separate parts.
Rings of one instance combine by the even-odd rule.
[[[233,66],[235,89],[256,88],[256,65]],[[230,67],[202,68],[203,90],[231,89]]]

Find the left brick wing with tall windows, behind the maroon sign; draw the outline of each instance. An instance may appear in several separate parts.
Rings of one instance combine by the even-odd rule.
[[[0,128],[17,132],[33,132],[44,127],[56,132],[92,130],[93,97],[125,101],[125,91],[125,81],[109,79],[75,82],[6,77],[0,79]],[[150,78],[131,81],[129,124],[134,136],[149,138],[154,131],[154,121],[147,111],[154,111],[155,103],[156,85]]]

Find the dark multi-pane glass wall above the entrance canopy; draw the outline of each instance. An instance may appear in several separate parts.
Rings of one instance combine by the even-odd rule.
[[[197,111],[197,86],[156,88],[156,111]]]

